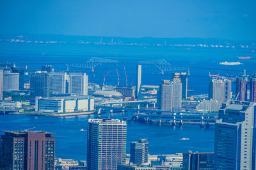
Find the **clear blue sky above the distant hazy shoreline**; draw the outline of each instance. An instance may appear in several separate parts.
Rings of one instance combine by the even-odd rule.
[[[1,0],[0,34],[256,40],[255,0]]]

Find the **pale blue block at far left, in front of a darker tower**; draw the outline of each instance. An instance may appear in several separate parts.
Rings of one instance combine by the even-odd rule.
[[[19,73],[10,73],[4,71],[3,90],[10,92],[11,90],[19,90]]]

